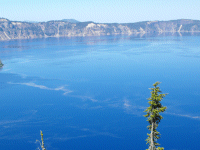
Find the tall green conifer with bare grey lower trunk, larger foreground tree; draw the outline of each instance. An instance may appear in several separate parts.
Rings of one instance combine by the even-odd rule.
[[[150,88],[151,97],[148,98],[150,106],[144,111],[147,112],[144,116],[147,117],[147,121],[150,124],[147,128],[151,132],[150,134],[147,134],[148,138],[146,141],[147,144],[149,144],[149,148],[147,150],[164,150],[163,147],[157,147],[160,145],[157,143],[157,140],[160,138],[161,134],[156,129],[159,122],[163,118],[160,113],[167,109],[167,107],[162,106],[160,103],[167,94],[161,94],[160,87],[158,87],[159,84],[160,82],[156,82],[153,84],[154,88]]]

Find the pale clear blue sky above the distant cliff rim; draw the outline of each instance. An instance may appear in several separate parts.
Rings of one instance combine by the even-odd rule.
[[[76,19],[98,23],[200,20],[200,0],[0,0],[0,17],[14,21]]]

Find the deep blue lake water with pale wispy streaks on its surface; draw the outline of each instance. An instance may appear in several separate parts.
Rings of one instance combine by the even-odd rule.
[[[148,88],[169,93],[166,150],[200,149],[200,36],[0,42],[0,149],[148,148]]]

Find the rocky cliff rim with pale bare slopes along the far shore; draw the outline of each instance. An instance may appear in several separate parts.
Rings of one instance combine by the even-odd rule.
[[[145,21],[138,23],[18,22],[0,19],[0,41],[64,36],[137,35],[200,32],[199,20]]]

